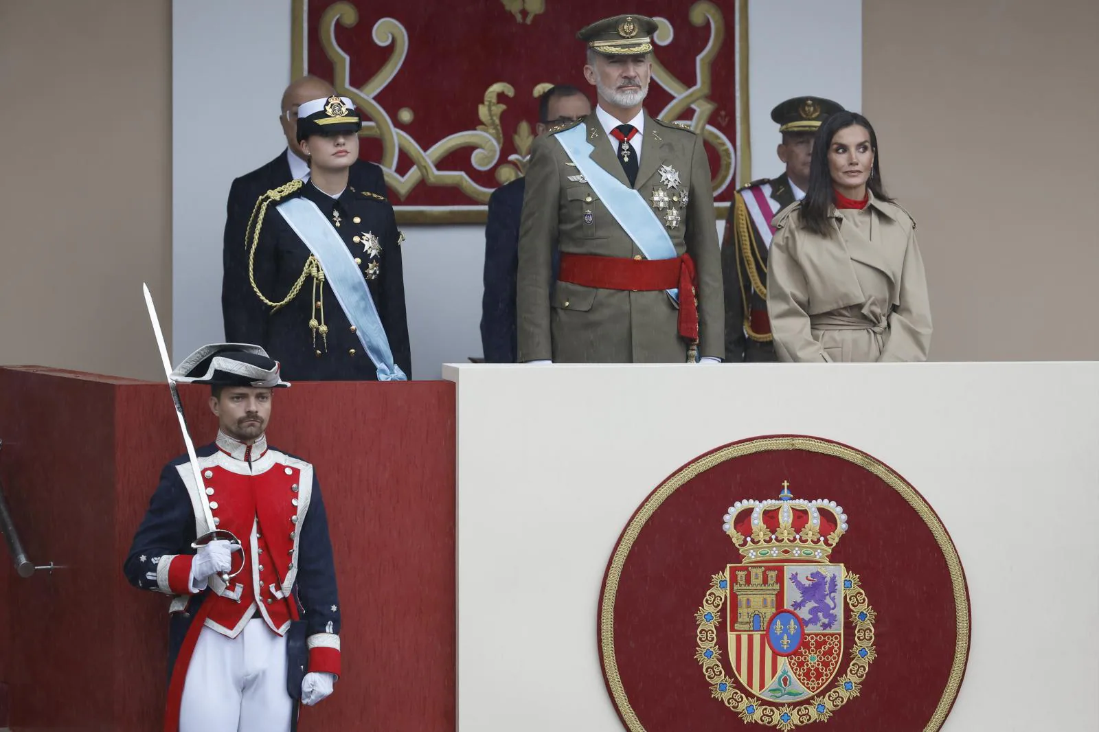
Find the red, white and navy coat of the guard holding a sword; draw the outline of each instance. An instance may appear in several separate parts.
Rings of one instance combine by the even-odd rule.
[[[289,673],[341,672],[335,567],[313,466],[268,448],[264,439],[248,446],[224,434],[196,454],[215,528],[241,540],[244,551],[234,552],[233,562],[237,566],[243,555],[243,569],[227,587],[212,576],[208,588],[191,592],[191,543],[213,528],[198,502],[186,455],[162,472],[124,564],[132,585],[173,597],[169,721],[178,721],[190,653],[203,626],[236,637],[249,620],[262,618],[282,635],[300,619],[308,657],[291,659]]]

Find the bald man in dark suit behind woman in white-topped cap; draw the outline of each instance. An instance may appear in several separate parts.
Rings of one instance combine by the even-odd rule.
[[[287,148],[270,163],[235,179],[229,189],[222,252],[221,309],[225,340],[231,343],[247,340],[244,331],[244,313],[234,312],[230,302],[233,293],[251,289],[248,248],[244,241],[248,219],[260,196],[296,178],[302,180],[309,178],[309,164],[306,163],[297,140],[298,107],[310,99],[331,97],[333,93],[335,92],[332,85],[315,76],[303,76],[290,84],[282,92],[282,113],[279,117]],[[374,163],[356,160],[351,167],[349,180],[351,186],[357,190],[386,195],[386,179],[381,167]]]

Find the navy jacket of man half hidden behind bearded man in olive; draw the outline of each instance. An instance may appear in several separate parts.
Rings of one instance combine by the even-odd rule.
[[[497,188],[488,199],[485,225],[485,295],[481,298],[481,348],[486,364],[514,364],[515,277],[519,271],[519,222],[523,213],[526,179],[517,178]],[[553,252],[553,279],[558,257]],[[552,292],[551,287],[551,292]]]

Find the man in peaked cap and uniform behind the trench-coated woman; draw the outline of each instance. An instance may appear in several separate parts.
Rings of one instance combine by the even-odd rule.
[[[775,233],[771,221],[800,201],[809,186],[813,137],[830,114],[843,109],[831,99],[796,97],[770,111],[782,142],[778,159],[786,171],[761,178],[733,196],[721,246],[725,286],[725,362],[776,361],[767,319],[767,252]]]

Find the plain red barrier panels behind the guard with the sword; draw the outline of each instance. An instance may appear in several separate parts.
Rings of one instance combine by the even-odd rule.
[[[217,426],[208,395],[181,392],[197,444]],[[270,442],[317,466],[344,608],[344,675],[302,732],[454,729],[454,400],[443,381],[277,396]],[[182,452],[167,387],[0,368],[0,437],[31,558],[67,565],[0,601],[12,729],[158,729],[167,598],[133,589],[122,562]]]

